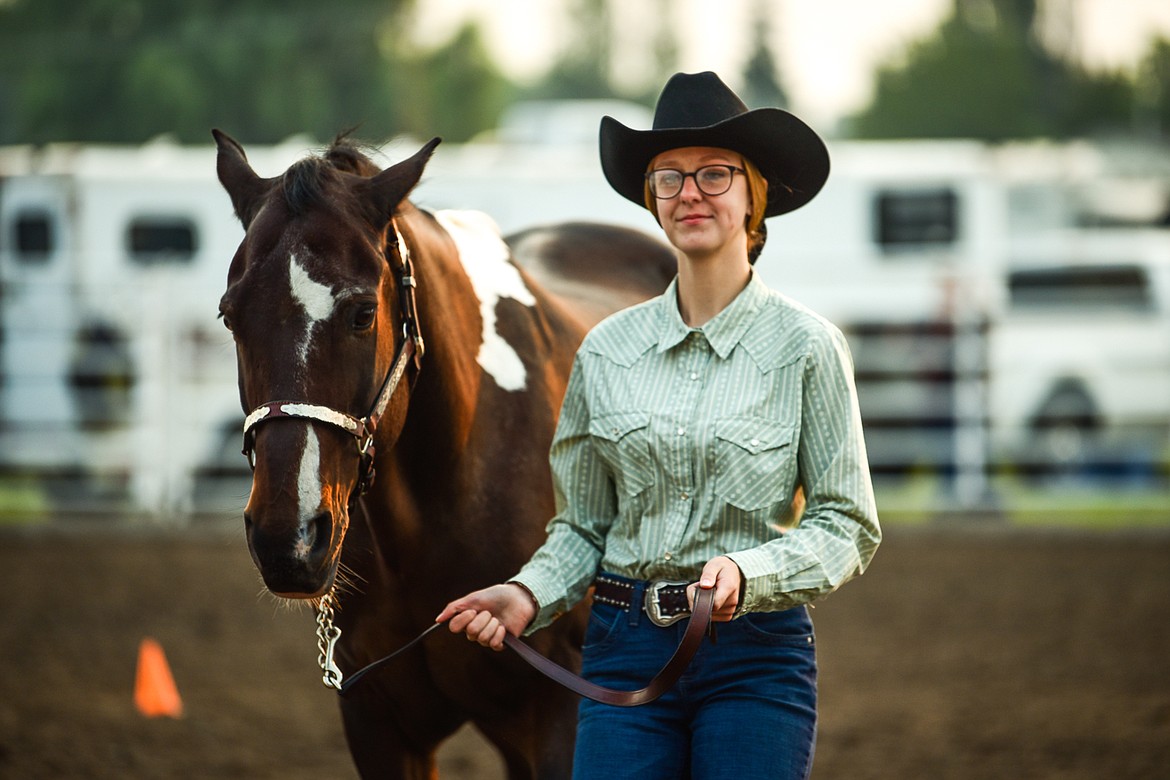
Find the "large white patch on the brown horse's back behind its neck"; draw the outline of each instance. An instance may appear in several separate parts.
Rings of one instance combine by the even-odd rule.
[[[438,212],[435,219],[454,240],[463,270],[472,279],[475,297],[480,299],[483,340],[476,361],[502,389],[524,389],[528,372],[519,354],[496,330],[496,305],[503,298],[511,298],[525,306],[535,306],[536,298],[524,284],[519,270],[511,264],[511,253],[500,237],[500,228],[481,212]]]

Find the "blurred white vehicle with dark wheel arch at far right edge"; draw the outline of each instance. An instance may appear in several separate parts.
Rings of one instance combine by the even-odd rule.
[[[1012,244],[989,332],[992,451],[1027,471],[1142,478],[1170,461],[1170,230]]]

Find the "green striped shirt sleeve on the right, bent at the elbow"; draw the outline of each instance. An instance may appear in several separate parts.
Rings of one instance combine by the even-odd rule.
[[[812,339],[797,451],[805,511],[797,527],[729,554],[743,572],[737,614],[787,609],[861,574],[881,541],[853,359],[835,327]]]

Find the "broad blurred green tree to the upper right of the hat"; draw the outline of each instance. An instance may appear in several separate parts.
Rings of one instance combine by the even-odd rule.
[[[873,103],[852,122],[869,138],[1090,134],[1129,120],[1131,85],[1048,53],[1034,0],[956,0],[904,60],[878,73]]]

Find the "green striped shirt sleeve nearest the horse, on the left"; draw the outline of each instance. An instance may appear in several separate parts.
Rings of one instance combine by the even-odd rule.
[[[590,437],[581,363],[583,357],[578,354],[549,458],[557,515],[546,527],[545,543],[512,578],[526,587],[539,605],[525,633],[548,626],[585,598],[618,512],[613,477]]]

